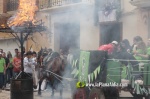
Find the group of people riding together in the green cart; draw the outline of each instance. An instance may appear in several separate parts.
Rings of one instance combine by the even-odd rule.
[[[148,60],[150,59],[150,39],[147,40],[146,45],[142,37],[136,36],[133,38],[132,46],[127,39],[119,43],[112,41],[110,44],[101,45],[98,50],[107,51],[111,58],[116,58],[116,56],[121,55],[119,53],[124,53],[120,57],[132,55],[136,60]]]

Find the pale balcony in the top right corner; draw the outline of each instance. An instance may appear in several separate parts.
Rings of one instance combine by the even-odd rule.
[[[140,8],[150,7],[150,0],[131,0],[130,3]]]

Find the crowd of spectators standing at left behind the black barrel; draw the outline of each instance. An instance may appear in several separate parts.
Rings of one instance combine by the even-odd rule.
[[[21,52],[17,48],[14,49],[14,52],[15,55],[12,56],[10,51],[6,54],[3,49],[0,49],[0,91],[10,85],[11,78],[17,79],[22,73]],[[25,73],[23,76],[33,78],[33,88],[35,89],[41,76],[44,55],[48,56],[51,52],[52,49],[44,50],[43,55],[39,55],[40,57],[35,51],[23,52],[23,71]],[[60,49],[59,54],[62,59],[66,58],[62,49]]]

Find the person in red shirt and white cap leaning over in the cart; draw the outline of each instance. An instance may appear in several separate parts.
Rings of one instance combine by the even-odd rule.
[[[98,50],[101,51],[107,51],[108,55],[112,54],[113,51],[117,48],[118,42],[117,41],[112,41],[109,44],[101,45]]]

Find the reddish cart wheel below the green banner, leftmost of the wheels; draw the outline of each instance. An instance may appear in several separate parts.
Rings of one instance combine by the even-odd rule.
[[[87,99],[86,91],[84,88],[77,89],[74,99]]]

